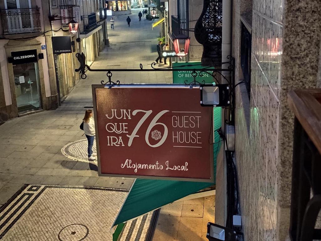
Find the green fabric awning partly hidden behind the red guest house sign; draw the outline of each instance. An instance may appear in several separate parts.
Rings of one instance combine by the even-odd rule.
[[[112,232],[120,223],[135,219],[215,184],[216,159],[221,144],[217,132],[221,127],[221,107],[214,108],[213,127],[214,183],[136,179],[111,228]]]

